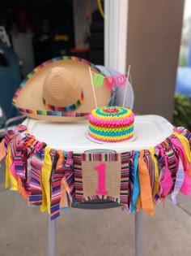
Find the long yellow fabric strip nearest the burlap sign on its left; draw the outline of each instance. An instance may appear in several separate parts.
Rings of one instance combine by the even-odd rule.
[[[40,172],[40,184],[42,189],[42,205],[40,210],[44,212],[46,209],[50,214],[50,175],[52,170],[52,160],[50,157],[49,146],[45,147],[45,162]]]

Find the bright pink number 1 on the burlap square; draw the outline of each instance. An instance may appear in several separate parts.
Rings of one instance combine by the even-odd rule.
[[[105,163],[97,165],[95,170],[98,171],[98,189],[96,194],[107,195],[108,191],[105,190]]]

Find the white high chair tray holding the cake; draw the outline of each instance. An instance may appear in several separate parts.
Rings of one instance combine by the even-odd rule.
[[[23,125],[38,141],[44,141],[53,149],[83,153],[86,150],[146,150],[158,145],[173,132],[173,126],[159,115],[135,116],[134,141],[96,143],[86,137],[88,120],[76,123],[50,123],[44,120],[25,119]]]

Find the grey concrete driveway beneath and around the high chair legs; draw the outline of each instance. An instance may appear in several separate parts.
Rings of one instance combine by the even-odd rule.
[[[18,192],[4,189],[0,169],[0,255],[47,255],[47,214],[28,203]],[[191,255],[191,198],[170,198],[144,215],[144,255]],[[104,210],[72,208],[57,219],[57,256],[135,255],[134,215],[124,207]]]

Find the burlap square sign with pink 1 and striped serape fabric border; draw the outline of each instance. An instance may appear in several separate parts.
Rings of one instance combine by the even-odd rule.
[[[128,161],[121,161],[121,154],[117,153],[74,154],[76,202],[98,198],[121,202],[124,193],[127,202],[129,167],[126,165]]]

